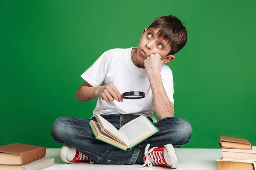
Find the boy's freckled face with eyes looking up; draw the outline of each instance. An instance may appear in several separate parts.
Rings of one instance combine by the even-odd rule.
[[[143,62],[151,54],[160,54],[163,63],[172,61],[175,57],[167,54],[171,51],[171,47],[166,40],[157,37],[160,28],[151,29],[144,28],[143,34],[138,45],[137,58]]]

